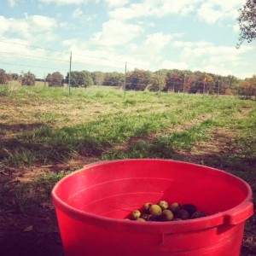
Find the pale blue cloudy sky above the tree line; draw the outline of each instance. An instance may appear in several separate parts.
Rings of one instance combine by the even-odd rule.
[[[256,42],[236,49],[244,0],[3,0],[0,68],[38,78],[135,67],[256,73]]]

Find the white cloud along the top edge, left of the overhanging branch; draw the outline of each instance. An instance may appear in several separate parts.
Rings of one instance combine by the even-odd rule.
[[[242,0],[244,3],[246,0]],[[113,9],[110,17],[118,20],[132,20],[142,17],[163,17],[166,15],[197,15],[201,20],[213,24],[226,18],[236,19],[241,0],[143,0],[127,7]]]

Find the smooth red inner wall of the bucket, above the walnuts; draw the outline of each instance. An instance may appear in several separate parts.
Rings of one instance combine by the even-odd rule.
[[[103,162],[65,177],[55,189],[68,206],[108,218],[125,218],[146,202],[193,203],[212,215],[247,198],[246,183],[207,166],[170,160]]]

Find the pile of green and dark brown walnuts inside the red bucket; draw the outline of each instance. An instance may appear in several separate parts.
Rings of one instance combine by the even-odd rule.
[[[157,204],[145,203],[140,210],[131,212],[129,218],[137,221],[173,221],[206,217],[204,212],[198,211],[193,204],[181,205],[177,202],[168,204],[159,201]]]

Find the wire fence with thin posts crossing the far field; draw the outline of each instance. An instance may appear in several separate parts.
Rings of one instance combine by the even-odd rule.
[[[9,50],[9,45],[19,45],[32,49],[32,53],[20,53]],[[0,40],[0,68],[22,76],[29,70],[36,74],[36,80],[44,87],[68,86],[87,87],[91,84],[112,86],[122,90],[151,90],[191,94],[238,95],[239,84],[236,79],[218,76],[218,79],[207,73],[186,73],[171,70],[148,71],[138,69],[142,64],[114,60],[109,57],[96,57],[83,53],[47,49],[39,46],[7,42]],[[29,52],[29,51],[28,51]],[[145,66],[146,67],[146,66]],[[133,68],[133,70],[132,70]],[[11,71],[10,71],[11,70]],[[156,68],[154,67],[154,70]],[[187,71],[188,72],[188,71]],[[50,76],[60,73],[61,82],[51,84]],[[60,78],[59,78],[60,79]]]

